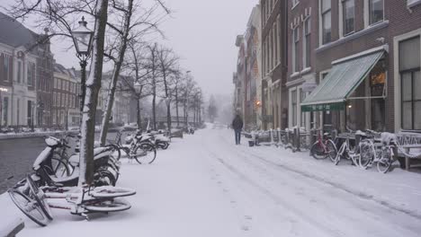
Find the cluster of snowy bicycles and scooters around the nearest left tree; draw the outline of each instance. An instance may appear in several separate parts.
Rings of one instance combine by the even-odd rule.
[[[157,148],[166,149],[169,141],[165,136],[137,132],[127,136],[126,145],[121,144],[119,132],[108,145],[95,145],[94,182],[92,186],[78,186],[80,165],[78,147],[71,149],[70,139],[80,137],[65,135],[61,138],[49,136],[46,147],[32,164],[33,173],[8,189],[13,203],[33,222],[46,226],[53,220],[51,208],[66,209],[72,215],[89,219],[94,213],[112,213],[130,209],[125,199],[136,194],[133,189],[116,187],[120,176],[121,156],[132,161],[152,163]]]

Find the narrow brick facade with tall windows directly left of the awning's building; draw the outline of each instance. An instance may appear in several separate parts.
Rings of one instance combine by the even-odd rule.
[[[316,85],[315,49],[318,48],[318,1],[288,1],[288,127],[309,129],[312,116],[300,102]]]

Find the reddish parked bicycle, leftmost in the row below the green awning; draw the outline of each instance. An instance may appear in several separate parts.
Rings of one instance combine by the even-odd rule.
[[[322,136],[322,129],[317,129],[315,131],[318,131],[318,139],[316,143],[311,145],[310,155],[316,160],[324,160],[329,157],[330,161],[335,162],[337,149],[335,142],[332,140],[332,136],[330,136],[329,133],[324,133]]]

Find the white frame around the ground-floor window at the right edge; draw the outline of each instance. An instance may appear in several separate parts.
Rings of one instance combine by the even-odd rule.
[[[401,108],[401,98],[402,98],[402,93],[401,93],[401,77],[400,77],[400,72],[399,72],[399,42],[400,41],[404,41],[404,40],[408,40],[410,38],[414,38],[419,36],[421,38],[421,29],[417,29],[416,31],[410,31],[408,33],[399,35],[399,36],[395,36],[395,38],[393,38],[393,55],[395,56],[393,58],[393,68],[394,68],[394,93],[395,93],[395,98],[394,98],[394,108],[395,108],[395,132],[399,133],[402,130],[402,119],[401,119],[401,112],[402,112],[402,108]],[[421,44],[421,40],[420,40],[420,44]],[[421,46],[420,46],[421,48]],[[421,57],[421,50],[420,50],[420,57]],[[420,67],[421,67],[421,62],[420,62]]]

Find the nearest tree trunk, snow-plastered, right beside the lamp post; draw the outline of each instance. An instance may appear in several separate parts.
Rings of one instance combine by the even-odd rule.
[[[103,48],[105,42],[105,27],[107,25],[108,0],[98,0],[95,9],[94,41],[92,51],[91,70],[86,80],[86,95],[84,113],[81,125],[82,138],[80,140],[80,162],[78,186],[84,183],[92,185],[94,180],[94,135],[95,113],[98,102],[98,92],[101,88],[103,76]]]

